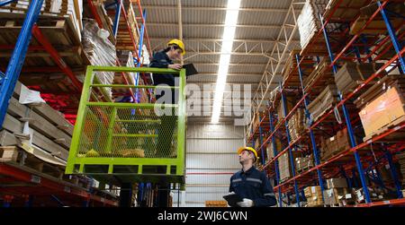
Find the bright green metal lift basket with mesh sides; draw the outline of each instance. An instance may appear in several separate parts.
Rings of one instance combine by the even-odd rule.
[[[114,82],[101,84],[101,73],[113,74]],[[175,87],[124,84],[129,74],[137,73],[178,74],[179,82]],[[87,66],[66,174],[184,183],[184,87],[184,69]],[[157,89],[174,91],[178,100],[150,103],[147,91]],[[130,90],[141,101],[119,102],[117,96],[128,96]]]

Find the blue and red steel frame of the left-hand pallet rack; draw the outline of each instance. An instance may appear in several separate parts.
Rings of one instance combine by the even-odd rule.
[[[0,6],[4,6],[7,4],[11,4],[14,3],[15,0],[7,0],[7,1],[3,1],[0,3]],[[118,32],[129,32],[130,33],[130,25],[128,22],[128,17],[126,15],[126,9],[124,7],[124,1],[123,0],[116,0],[114,2],[114,4],[112,5],[105,5],[105,8],[109,8],[110,6],[115,5],[115,11],[113,13],[115,13],[115,21],[113,24],[113,30],[114,30],[114,36],[117,35]],[[70,79],[70,81],[72,82],[73,86],[76,89],[76,94],[80,94],[80,91],[82,91],[82,83],[80,81],[78,81],[78,79],[76,78],[76,75],[73,73],[72,68],[65,62],[65,60],[63,59],[62,56],[60,56],[58,54],[58,50],[52,46],[52,44],[49,42],[49,39],[47,39],[47,37],[45,35],[43,35],[43,33],[40,30],[40,27],[37,26],[36,22],[39,18],[40,15],[40,9],[41,6],[43,4],[43,0],[38,0],[38,1],[32,1],[31,4],[29,5],[28,11],[26,13],[25,19],[23,21],[23,26],[22,29],[20,31],[20,34],[18,36],[18,39],[16,40],[16,43],[14,46],[2,46],[1,48],[5,48],[5,49],[12,49],[14,48],[13,54],[10,58],[9,64],[7,65],[7,68],[5,69],[5,72],[1,72],[0,73],[0,125],[3,125],[4,122],[4,117],[5,114],[7,112],[7,108],[8,108],[8,102],[13,94],[14,91],[14,87],[15,87],[15,83],[17,82],[22,70],[23,70],[23,64],[24,64],[24,59],[25,56],[27,54],[27,50],[30,46],[30,42],[31,42],[31,38],[32,36],[35,37],[35,39],[40,43],[40,47],[35,47],[35,48],[39,48],[40,50],[44,50],[45,52],[49,53],[49,56],[51,57],[52,61],[57,65],[56,67],[51,67],[51,68],[43,68],[43,67],[30,67],[29,70],[30,72],[62,72],[64,74],[67,75],[67,77]],[[95,8],[94,8],[94,4],[91,0],[87,1],[88,7],[90,8],[90,11],[93,13],[94,16],[94,20],[96,22],[98,22],[99,25],[101,25],[101,28],[103,28],[102,23],[100,22],[100,17],[97,14]],[[140,24],[140,35],[139,35],[139,47],[135,44],[135,41],[133,39],[133,37],[131,37],[132,39],[132,44],[133,44],[133,48],[134,49],[139,49],[139,51],[135,51],[134,54],[134,60],[135,62],[137,62],[137,66],[142,66],[141,65],[141,51],[142,51],[142,46],[143,43],[146,43],[147,45],[147,49],[150,52],[150,43],[149,43],[149,39],[148,39],[148,30],[146,28],[146,10],[142,10],[140,1],[136,1],[137,4],[137,9],[139,11],[139,16],[136,17],[136,19],[139,21]],[[119,21],[120,21],[120,17],[123,17],[125,20],[125,23],[127,24],[127,27],[119,30]],[[151,56],[149,54],[149,56]],[[117,61],[117,64],[119,65],[119,62]],[[125,74],[122,74],[123,76],[123,80],[125,82],[128,83],[128,80],[126,79]],[[141,74],[142,77],[144,77],[144,74]],[[136,84],[138,84],[139,81],[139,75],[137,75],[136,77]],[[62,94],[63,91],[60,91],[60,94]],[[139,93],[138,91],[136,91],[135,93],[130,90],[130,94],[131,96],[134,97],[134,99],[138,99],[139,98]],[[148,94],[150,94],[150,92],[148,92]],[[75,121],[76,117],[74,115],[67,115],[66,116],[67,119],[69,121]],[[2,173],[4,176],[12,176],[15,177],[17,176],[21,171],[18,168],[7,168],[4,169],[6,166],[5,165],[1,165],[2,166]],[[28,176],[28,175],[27,175]],[[29,182],[29,181],[27,181]],[[58,186],[58,183],[52,183],[50,182],[50,184],[52,186]],[[27,193],[30,193],[31,195],[27,195],[27,196],[32,196],[32,195],[36,195],[39,194],[37,191],[39,190],[38,188],[32,188],[32,191],[28,190],[30,188],[26,188],[26,189],[22,189],[19,190],[18,195],[27,195]],[[17,190],[17,189],[15,189]],[[57,189],[55,189],[57,191],[60,191]],[[52,193],[52,191],[55,190],[51,190],[49,189],[49,193]],[[87,201],[85,201],[85,206],[88,206],[89,203],[93,203],[93,205],[96,204],[108,204],[108,205],[113,205],[113,206],[117,206],[118,203],[111,201],[111,200],[107,200],[99,195],[92,195],[89,192],[83,194],[83,195],[76,195],[76,194],[71,194],[71,193],[67,193],[67,192],[63,192],[64,195],[68,195],[69,198],[74,199],[75,196],[80,196],[80,197],[84,197],[85,199],[87,199]],[[7,201],[4,202],[4,206],[10,205],[10,201],[13,200],[13,195],[6,195],[5,199]],[[55,199],[58,199],[55,196]],[[89,202],[91,201],[91,202]]]

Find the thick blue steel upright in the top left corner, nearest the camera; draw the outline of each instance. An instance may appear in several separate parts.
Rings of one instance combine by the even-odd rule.
[[[38,20],[42,3],[43,0],[31,1],[23,22],[22,30],[18,35],[17,43],[15,43],[13,55],[5,70],[5,77],[0,86],[0,126],[3,125],[8,103],[14,91],[15,82],[17,82],[21,69],[23,68],[25,55],[32,38],[31,30],[34,23]]]

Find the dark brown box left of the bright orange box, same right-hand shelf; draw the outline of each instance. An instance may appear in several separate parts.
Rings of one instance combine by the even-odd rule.
[[[328,160],[333,155],[337,155],[341,151],[350,149],[349,137],[347,128],[338,131],[333,137],[322,138],[320,140],[320,160]]]

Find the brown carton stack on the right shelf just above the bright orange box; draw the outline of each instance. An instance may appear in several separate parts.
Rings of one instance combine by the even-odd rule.
[[[381,67],[381,64],[347,62],[338,70],[338,74],[335,76],[338,91],[342,94],[354,91],[358,85],[374,74],[379,67]]]

